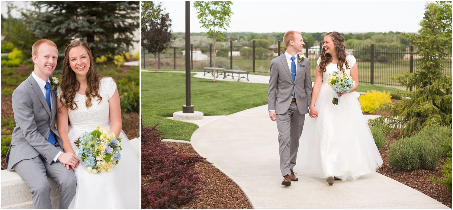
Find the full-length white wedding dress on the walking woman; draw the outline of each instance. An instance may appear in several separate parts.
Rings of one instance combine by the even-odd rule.
[[[352,55],[346,59],[352,68],[356,59]],[[332,103],[334,91],[327,84],[327,78],[335,70],[338,70],[337,64],[329,63],[323,73],[323,84],[315,103],[318,117],[305,117],[297,162],[302,170],[300,174],[356,180],[380,168],[382,159],[361,112],[358,93],[344,94],[338,99],[339,105]],[[346,69],[346,73],[350,75],[350,69]]]

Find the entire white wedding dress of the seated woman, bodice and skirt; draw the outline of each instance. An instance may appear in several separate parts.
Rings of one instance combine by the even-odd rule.
[[[92,132],[96,126],[110,129],[108,100],[115,93],[116,83],[106,77],[101,79],[99,86],[101,103],[98,104],[97,97],[92,98],[92,106],[87,108],[85,95],[76,93],[74,102],[77,103],[77,109],[68,113],[71,123],[68,137],[76,154],[78,149],[74,141],[83,132]],[[58,89],[58,98],[60,94]],[[80,162],[75,171],[77,190],[70,209],[140,209],[140,160],[122,130],[120,137],[123,148],[121,159],[110,173],[92,174]]]

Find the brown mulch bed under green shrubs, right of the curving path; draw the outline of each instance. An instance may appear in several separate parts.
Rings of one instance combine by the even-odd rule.
[[[386,146],[380,150],[382,161],[384,164],[380,169],[377,170],[378,173],[390,177],[396,181],[399,181],[407,186],[414,188],[422,192],[429,197],[434,198],[435,200],[441,202],[443,205],[452,207],[452,193],[448,192],[448,188],[442,185],[434,184],[429,180],[429,177],[439,177],[441,178],[442,163],[444,158],[439,161],[439,164],[436,166],[435,171],[419,169],[415,171],[399,171],[389,163],[388,149],[391,143],[397,141],[399,133],[395,132],[391,137],[390,141],[386,143]]]

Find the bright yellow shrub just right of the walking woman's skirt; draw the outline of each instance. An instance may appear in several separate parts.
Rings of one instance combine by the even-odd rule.
[[[391,103],[390,101],[390,92],[384,93],[380,91],[371,90],[367,91],[365,95],[361,95],[359,98],[360,106],[362,107],[362,112],[373,113],[377,108],[386,103]]]

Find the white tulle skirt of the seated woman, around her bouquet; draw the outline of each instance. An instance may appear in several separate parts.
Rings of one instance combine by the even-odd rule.
[[[101,129],[110,129],[110,122]],[[74,141],[94,126],[69,127],[68,137],[77,154]],[[83,163],[77,167],[77,190],[70,209],[140,209],[140,161],[132,144],[121,130],[121,159],[110,173],[92,174]]]

